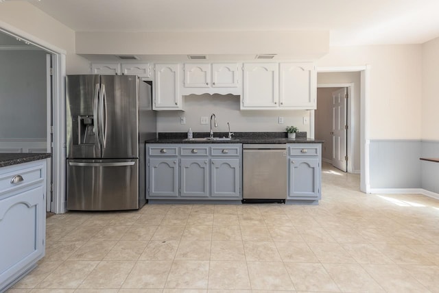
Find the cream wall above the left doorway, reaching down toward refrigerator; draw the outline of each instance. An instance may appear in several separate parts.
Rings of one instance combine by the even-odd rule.
[[[1,23],[66,51],[67,74],[88,73],[89,63],[75,54],[75,32],[26,1],[1,3]]]

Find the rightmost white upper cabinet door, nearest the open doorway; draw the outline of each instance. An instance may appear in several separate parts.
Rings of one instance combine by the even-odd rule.
[[[316,71],[312,63],[280,64],[280,107],[316,109]]]

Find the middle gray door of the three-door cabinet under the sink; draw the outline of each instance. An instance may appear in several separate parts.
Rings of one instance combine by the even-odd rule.
[[[181,159],[180,196],[209,196],[209,159]]]

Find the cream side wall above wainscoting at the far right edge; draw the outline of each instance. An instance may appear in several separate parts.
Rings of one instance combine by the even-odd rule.
[[[423,44],[422,52],[422,138],[423,140],[439,140],[439,38]]]

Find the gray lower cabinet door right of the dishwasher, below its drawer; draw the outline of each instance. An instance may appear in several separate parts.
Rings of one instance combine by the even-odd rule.
[[[289,158],[289,199],[319,199],[318,182],[318,158]]]

